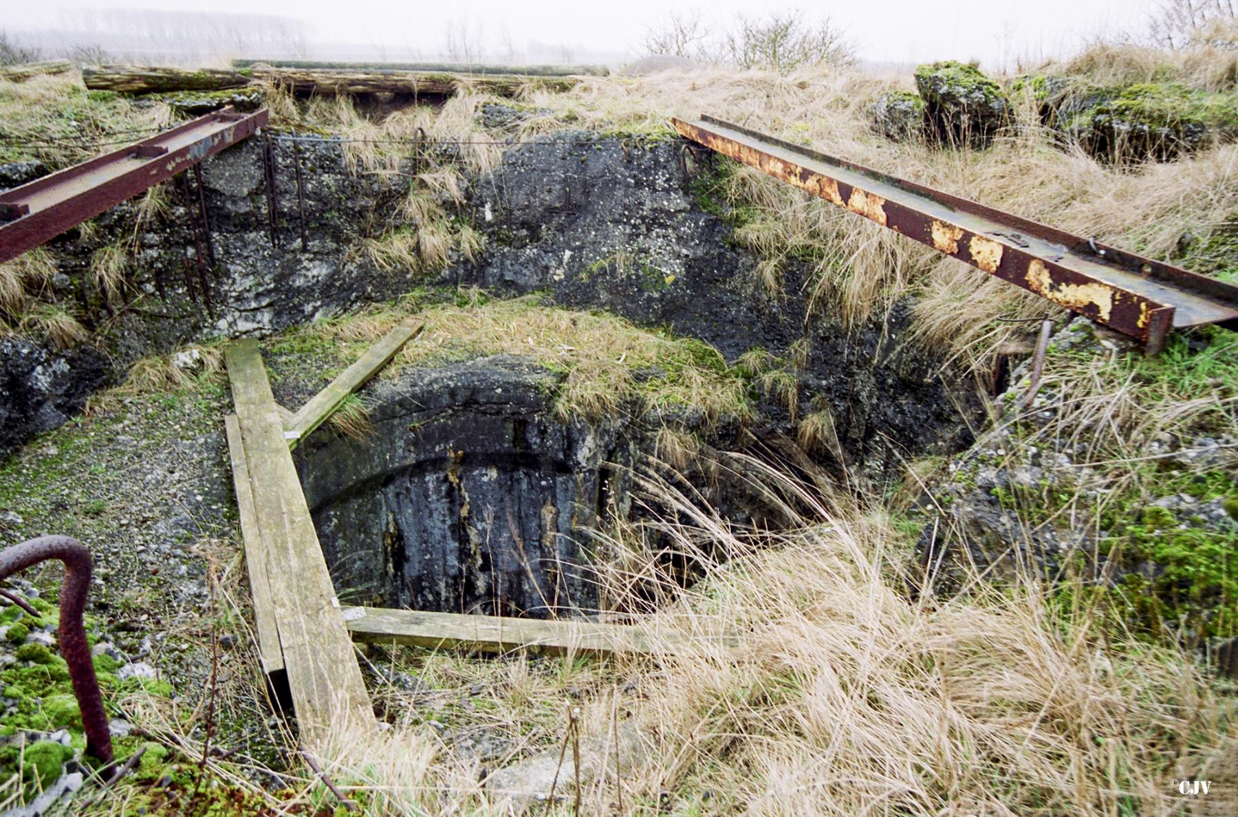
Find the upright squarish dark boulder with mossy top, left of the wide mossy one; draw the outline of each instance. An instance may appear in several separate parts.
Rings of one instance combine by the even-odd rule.
[[[1010,120],[1010,99],[976,66],[954,61],[920,66],[916,88],[931,134],[943,144],[983,147]]]

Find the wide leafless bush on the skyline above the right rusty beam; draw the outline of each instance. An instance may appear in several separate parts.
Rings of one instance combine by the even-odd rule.
[[[801,66],[844,66],[855,61],[852,45],[828,17],[820,24],[791,10],[754,19],[740,15],[727,32],[728,61],[737,68],[765,68],[779,73]]]

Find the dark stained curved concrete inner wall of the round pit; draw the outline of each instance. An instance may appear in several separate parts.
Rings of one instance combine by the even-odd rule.
[[[583,531],[608,501],[617,423],[563,422],[557,375],[516,357],[366,387],[374,431],[319,431],[297,468],[342,603],[548,616],[592,612]]]

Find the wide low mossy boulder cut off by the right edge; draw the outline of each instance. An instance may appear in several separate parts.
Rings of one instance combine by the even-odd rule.
[[[1080,110],[1063,128],[1099,158],[1164,161],[1238,135],[1238,95],[1139,83]]]

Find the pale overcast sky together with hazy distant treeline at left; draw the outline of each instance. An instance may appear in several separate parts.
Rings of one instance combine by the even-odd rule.
[[[0,19],[0,30],[48,54],[76,51],[180,64],[232,57],[620,64],[645,53],[646,33],[665,26],[671,14],[702,9],[649,0],[633,0],[623,9],[543,1],[519,10],[478,0],[452,11],[361,0],[350,4],[348,14],[339,14],[334,4],[286,0],[223,0],[210,12],[184,0],[161,5],[11,9]],[[704,25],[718,31],[739,15],[761,17],[797,7],[807,20],[828,19],[841,28],[862,64],[898,67],[954,58],[1008,69],[1070,56],[1099,38],[1140,38],[1158,2],[1044,0],[1029,9],[1014,1],[954,0],[931,7],[915,2],[807,7],[723,0],[702,11]]]

